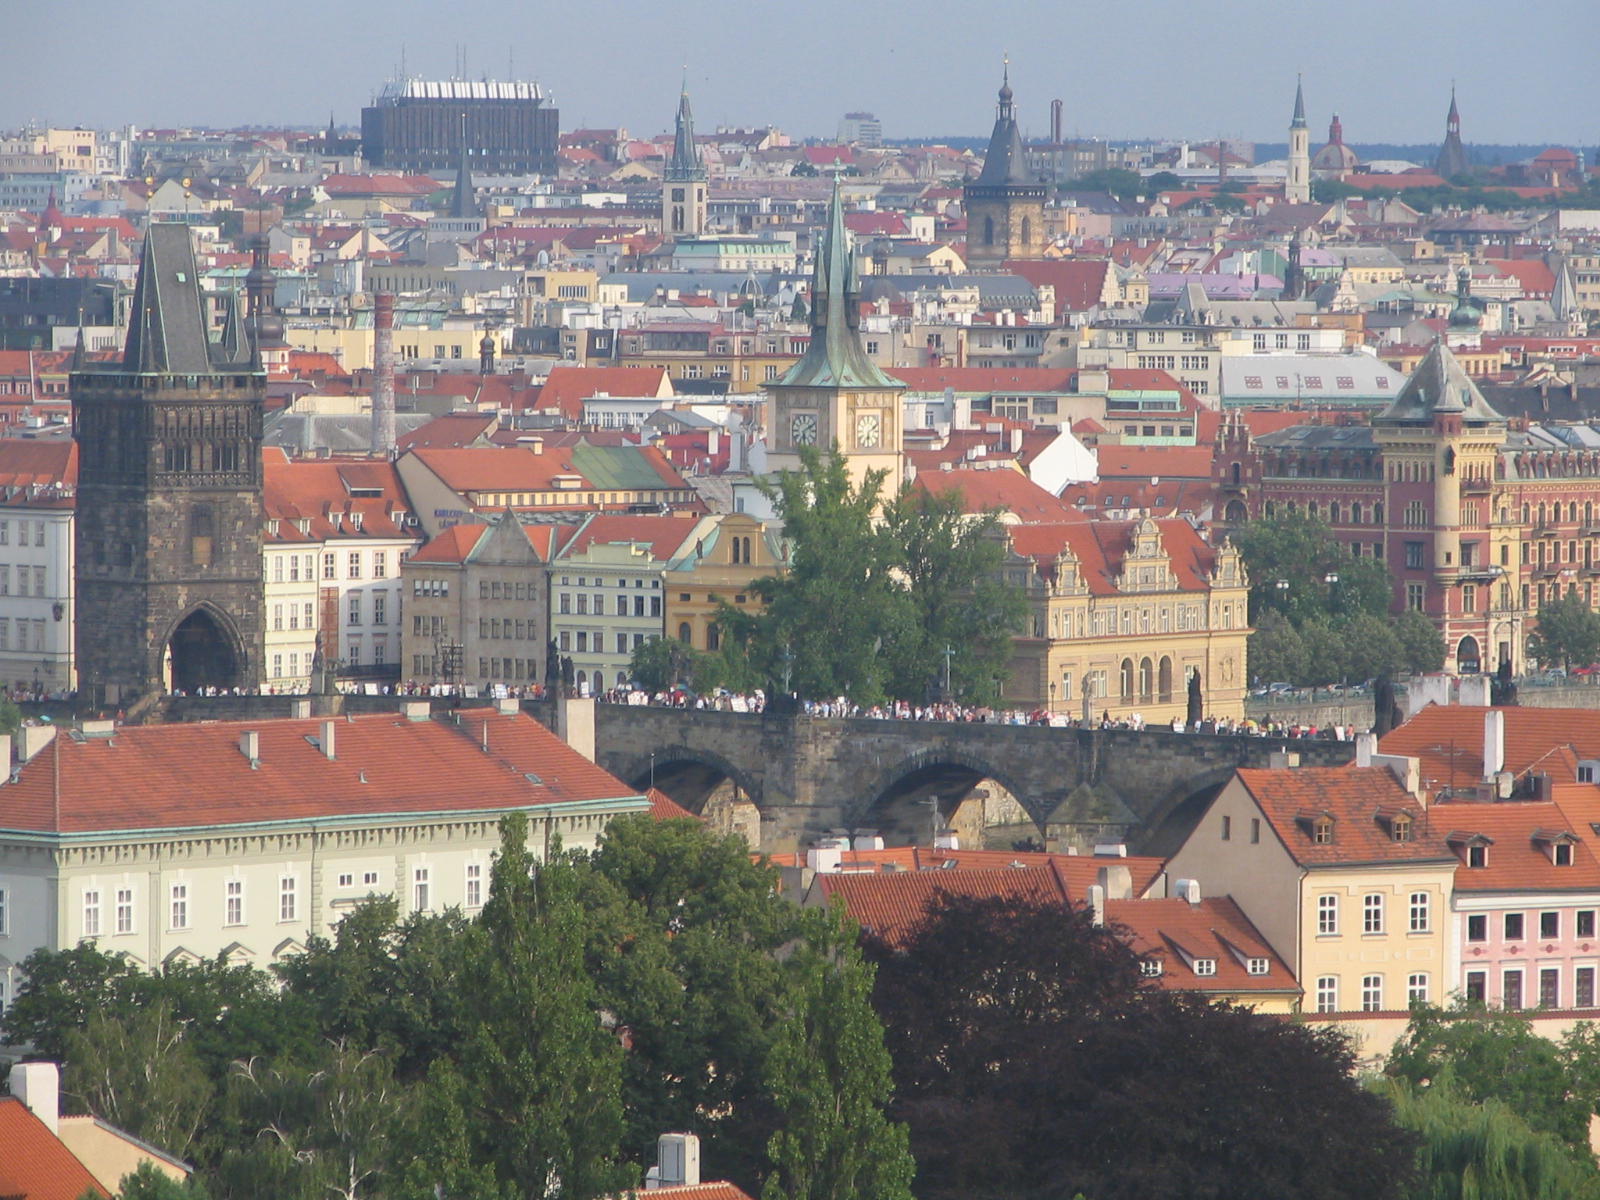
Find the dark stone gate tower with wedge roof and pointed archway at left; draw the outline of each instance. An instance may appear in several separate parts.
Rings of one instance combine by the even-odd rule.
[[[72,374],[77,654],[91,704],[261,674],[266,373],[213,341],[189,229],[152,224],[122,362]]]

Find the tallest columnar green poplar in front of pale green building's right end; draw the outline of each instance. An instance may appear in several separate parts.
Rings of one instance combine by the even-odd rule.
[[[522,1195],[590,1200],[627,1187],[622,1046],[584,970],[578,870],[536,864],[528,818],[501,819],[490,898],[470,938],[459,1053],[474,1157]]]

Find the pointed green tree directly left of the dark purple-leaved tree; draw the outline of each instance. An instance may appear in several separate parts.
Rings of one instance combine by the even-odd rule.
[[[795,987],[768,1059],[779,1126],[762,1200],[910,1200],[907,1131],[885,1115],[894,1085],[874,970],[842,912],[808,915],[813,933],[786,965]]]

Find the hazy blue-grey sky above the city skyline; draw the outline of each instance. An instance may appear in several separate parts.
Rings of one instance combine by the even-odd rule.
[[[682,66],[696,120],[832,136],[987,133],[1002,54],[1030,136],[1282,141],[1306,75],[1314,141],[1462,134],[1600,142],[1597,0],[14,0],[0,128],[355,125],[402,53],[411,74],[536,78],[562,128],[669,126]]]

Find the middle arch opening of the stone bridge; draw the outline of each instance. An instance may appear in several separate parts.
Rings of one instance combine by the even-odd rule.
[[[982,845],[986,829],[1005,842],[1043,842],[1045,814],[1037,798],[992,760],[950,746],[907,755],[846,808],[853,829],[875,829],[891,846],[928,845],[934,811],[939,824],[957,829],[970,850]]]

